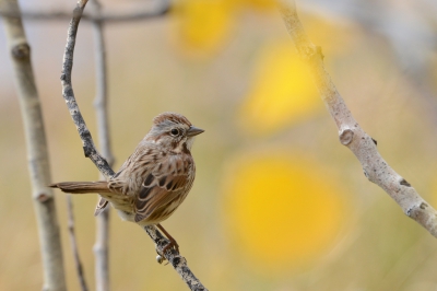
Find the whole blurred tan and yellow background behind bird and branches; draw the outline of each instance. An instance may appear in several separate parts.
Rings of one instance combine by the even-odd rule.
[[[74,1],[21,1],[71,11]],[[156,3],[156,2],[155,2]],[[155,4],[105,0],[111,11]],[[329,3],[329,4],[328,4]],[[310,39],[386,161],[437,205],[437,2],[297,1]],[[437,290],[436,238],[369,183],[268,0],[179,0],[151,21],[106,25],[115,170],[166,110],[205,129],[194,186],[163,223],[210,290]],[[68,20],[25,21],[54,182],[95,181],[61,96]],[[39,290],[43,272],[12,66],[0,23],[0,290]],[[82,22],[73,86],[96,139],[93,32]],[[56,200],[67,280],[79,290],[66,195]],[[94,289],[94,208],[73,197]],[[186,290],[144,231],[111,212],[113,290]]]

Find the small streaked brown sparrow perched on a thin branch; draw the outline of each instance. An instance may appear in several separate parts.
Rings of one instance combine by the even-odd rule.
[[[180,114],[160,114],[135,151],[108,181],[62,182],[50,187],[71,194],[98,193],[102,198],[95,214],[109,201],[123,220],[143,226],[156,224],[170,241],[167,247],[178,249],[160,222],[173,214],[191,189],[196,166],[190,150],[193,137],[203,131]]]

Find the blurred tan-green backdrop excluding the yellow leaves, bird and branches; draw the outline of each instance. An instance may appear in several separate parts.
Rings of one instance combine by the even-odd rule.
[[[308,112],[299,123],[262,137],[240,126],[240,108],[253,88],[252,72],[263,49],[277,39],[286,39],[287,34],[276,13],[234,13],[237,19],[220,49],[199,53],[200,58],[196,58],[196,51],[181,53],[172,40],[174,25],[178,25],[174,14],[150,22],[107,25],[115,168],[149,130],[152,118],[162,112],[181,113],[205,129],[192,150],[198,168],[194,186],[164,225],[178,240],[190,268],[210,290],[435,290],[435,238],[365,178],[357,160],[339,143],[328,112]],[[332,21],[305,11],[300,11],[300,18],[312,40],[327,47],[327,69],[355,118],[378,141],[382,156],[435,205],[436,101],[410,79],[383,37],[352,21]],[[94,165],[83,156],[60,94],[67,27],[68,22],[26,22],[52,179],[97,179]],[[291,40],[290,48],[293,49]],[[82,23],[73,85],[87,126],[96,137],[93,54],[91,26]],[[436,68],[433,54],[429,66]],[[39,245],[20,109],[1,33],[0,63],[0,290],[34,290],[42,287]],[[435,71],[429,70],[426,77],[435,79]],[[426,90],[436,93],[435,84]],[[276,277],[263,276],[245,261],[239,252],[245,246],[236,245],[238,241],[228,231],[232,226],[226,224],[239,222],[228,222],[223,205],[225,171],[237,160],[235,156],[275,147],[286,148],[291,154],[305,152],[320,163],[320,168],[329,168],[329,176],[335,176],[335,184],[342,187],[347,208],[342,213],[342,231],[326,253]],[[68,286],[79,290],[68,241],[64,194],[56,193],[56,199]],[[80,254],[91,289],[96,200],[95,196],[73,198]],[[293,207],[297,206],[290,206]],[[282,233],[264,235],[271,240],[282,237]],[[147,235],[135,224],[120,221],[114,211],[109,245],[113,290],[186,289],[172,266],[155,261]],[[288,247],[293,248],[293,241]]]

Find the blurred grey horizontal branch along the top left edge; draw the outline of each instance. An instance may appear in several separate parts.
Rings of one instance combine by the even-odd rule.
[[[134,21],[147,21],[161,18],[166,15],[170,9],[170,1],[160,1],[160,7],[154,10],[151,9],[142,9],[142,10],[133,10],[128,12],[120,13],[119,11],[99,13],[99,14],[83,14],[83,21],[98,21],[98,22],[108,22],[108,23],[118,23],[118,22],[134,22]],[[64,11],[22,11],[15,9],[0,9],[0,16],[3,18],[15,18],[21,16],[25,20],[31,21],[61,21],[61,20],[70,20],[71,13]]]

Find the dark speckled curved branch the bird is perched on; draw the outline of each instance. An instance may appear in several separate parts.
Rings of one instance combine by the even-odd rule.
[[[107,161],[95,149],[90,130],[87,129],[85,121],[82,117],[82,114],[79,109],[79,106],[75,102],[74,92],[71,84],[73,51],[78,33],[78,26],[82,16],[82,12],[86,5],[86,2],[87,0],[78,1],[76,8],[73,11],[73,18],[70,22],[70,26],[68,30],[67,46],[63,55],[63,65],[61,73],[62,96],[66,100],[67,107],[70,110],[74,125],[78,128],[78,132],[82,140],[85,156],[90,158],[93,161],[93,163],[97,166],[98,171],[101,171],[101,173],[108,178],[113,176],[115,172],[109,166]],[[145,226],[144,230],[155,242],[158,252],[163,253],[163,246],[169,244],[169,241],[166,240],[156,230],[154,225]],[[190,287],[191,290],[206,290],[191,272],[191,270],[187,266],[187,260],[182,256],[180,256],[178,252],[176,252],[175,249],[167,249],[164,256],[176,269],[176,271],[180,275],[180,277],[188,284],[188,287]]]

